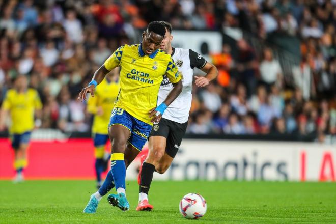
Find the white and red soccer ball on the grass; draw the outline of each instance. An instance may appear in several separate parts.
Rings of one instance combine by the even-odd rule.
[[[198,193],[188,193],[180,201],[180,213],[187,219],[199,219],[207,211],[205,199]]]

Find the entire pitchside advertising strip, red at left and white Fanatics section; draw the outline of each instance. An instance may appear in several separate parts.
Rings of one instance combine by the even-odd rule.
[[[10,142],[0,139],[0,179],[13,177],[12,161]],[[137,158],[127,179],[137,178],[138,165]],[[184,139],[170,169],[154,173],[154,179],[335,181],[335,172],[336,149],[331,145]],[[33,141],[25,177],[94,179],[92,140]]]

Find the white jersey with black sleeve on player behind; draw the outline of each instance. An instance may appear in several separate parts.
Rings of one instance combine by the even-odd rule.
[[[183,89],[181,94],[164,111],[162,118],[183,124],[188,121],[191,107],[193,68],[201,69],[207,61],[201,54],[183,48],[173,48],[172,58],[179,69]],[[166,99],[172,89],[172,83],[164,75],[159,89],[157,105],[160,105]]]

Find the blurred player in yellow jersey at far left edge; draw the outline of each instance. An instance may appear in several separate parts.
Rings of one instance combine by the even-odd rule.
[[[22,171],[27,166],[27,147],[31,131],[41,125],[41,120],[34,123],[34,112],[37,118],[41,117],[42,103],[36,90],[27,88],[28,82],[24,75],[15,80],[15,88],[7,91],[0,111],[0,131],[5,129],[7,115],[10,115],[11,125],[9,132],[12,138],[12,147],[15,152],[14,168],[15,182],[23,181]]]

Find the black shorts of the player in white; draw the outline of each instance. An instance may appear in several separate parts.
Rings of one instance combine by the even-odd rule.
[[[177,151],[179,151],[187,126],[188,122],[180,124],[175,121],[161,118],[160,122],[153,126],[149,138],[151,136],[165,137],[167,139],[165,151],[169,156],[174,158]]]

